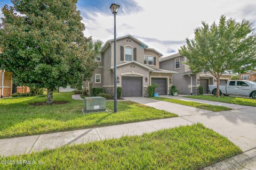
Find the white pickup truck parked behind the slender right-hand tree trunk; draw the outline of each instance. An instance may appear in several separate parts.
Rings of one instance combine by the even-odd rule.
[[[217,94],[217,85],[209,85],[211,94]],[[220,95],[239,95],[256,99],[256,83],[247,80],[229,80],[227,84],[220,84]]]

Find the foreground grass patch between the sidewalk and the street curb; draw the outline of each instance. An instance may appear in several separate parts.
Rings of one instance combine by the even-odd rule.
[[[234,143],[202,124],[65,146],[1,160],[34,160],[3,169],[201,169],[241,154]],[[43,164],[38,165],[38,161]]]

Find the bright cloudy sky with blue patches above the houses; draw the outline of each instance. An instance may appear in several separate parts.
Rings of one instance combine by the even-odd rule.
[[[255,0],[78,0],[86,37],[103,43],[114,38],[114,16],[109,9],[113,2],[121,5],[117,37],[132,35],[164,56],[178,53],[187,37],[194,38],[194,29],[202,21],[218,22],[222,14],[237,21],[251,20],[256,26]],[[11,5],[11,1],[1,0],[0,7],[4,4]]]

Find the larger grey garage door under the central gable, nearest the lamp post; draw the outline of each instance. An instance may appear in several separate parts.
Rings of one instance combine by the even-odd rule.
[[[139,96],[142,96],[142,78],[122,77],[122,97]]]

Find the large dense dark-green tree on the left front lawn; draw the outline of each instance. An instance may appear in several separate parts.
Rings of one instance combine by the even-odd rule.
[[[12,0],[2,8],[0,69],[17,85],[53,90],[90,80],[97,64],[76,0]]]

